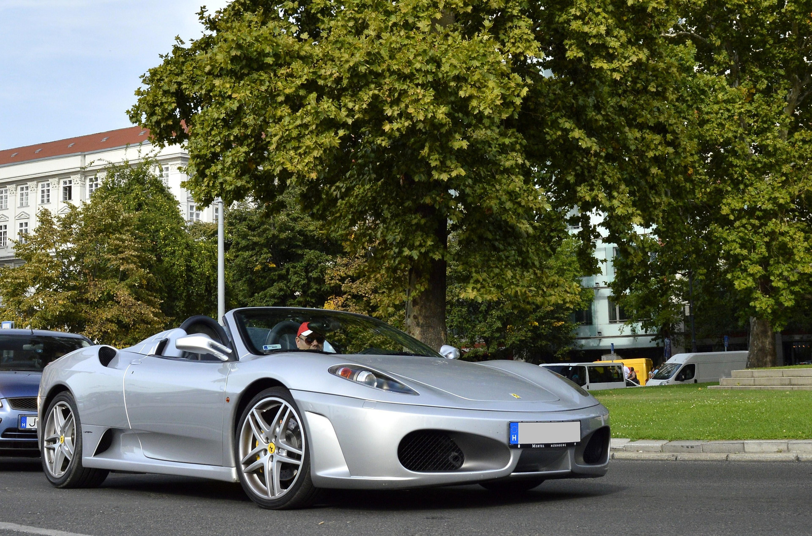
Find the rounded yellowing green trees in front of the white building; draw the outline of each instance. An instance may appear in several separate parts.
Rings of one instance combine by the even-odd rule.
[[[126,346],[211,307],[208,261],[153,165],[111,165],[89,203],[38,214],[35,232],[15,244],[25,264],[0,270],[6,314]]]

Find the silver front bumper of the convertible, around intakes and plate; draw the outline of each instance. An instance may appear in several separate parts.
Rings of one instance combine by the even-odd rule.
[[[567,412],[490,412],[413,406],[292,391],[310,440],[313,484],[324,488],[410,488],[499,478],[603,477],[609,462],[609,415],[601,405]],[[574,447],[508,448],[510,421],[581,421]],[[606,448],[594,463],[584,449],[603,429]],[[416,472],[400,463],[398,447],[417,430],[445,431],[465,451],[454,471]]]

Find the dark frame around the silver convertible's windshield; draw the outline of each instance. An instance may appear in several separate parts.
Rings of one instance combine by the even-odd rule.
[[[272,314],[287,314],[291,316],[336,316],[336,317],[344,317],[348,320],[355,320],[356,322],[368,322],[374,327],[375,331],[387,338],[393,339],[395,342],[402,344],[403,346],[417,346],[418,349],[421,350],[419,354],[413,354],[415,357],[433,357],[436,359],[445,360],[446,358],[443,357],[439,352],[434,351],[430,346],[426,345],[424,342],[418,341],[417,338],[413,338],[408,333],[404,333],[400,329],[396,329],[391,325],[388,325],[386,322],[382,320],[378,320],[372,316],[366,315],[359,315],[354,312],[346,312],[346,311],[334,311],[330,309],[316,309],[316,308],[309,308],[309,307],[240,307],[239,309],[235,309],[231,311],[231,318],[234,320],[234,325],[236,328],[237,333],[240,335],[241,342],[248,352],[252,355],[274,355],[274,354],[284,354],[289,352],[312,352],[315,354],[322,354],[322,355],[365,355],[365,354],[339,354],[334,352],[328,351],[318,351],[318,350],[300,350],[296,349],[287,349],[287,350],[274,350],[270,352],[263,352],[259,351],[257,347],[254,346],[252,338],[248,335],[247,326],[245,325],[246,316],[260,316],[257,313],[261,312],[268,312],[269,315]],[[408,345],[403,344],[401,341],[408,342]],[[369,354],[372,355],[372,354]],[[391,355],[391,356],[404,356],[404,355],[412,355],[406,353],[383,353],[383,354],[374,354],[374,355]]]

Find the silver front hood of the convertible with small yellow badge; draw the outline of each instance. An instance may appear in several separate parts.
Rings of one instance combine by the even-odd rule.
[[[401,377],[408,384],[436,390],[476,402],[555,402],[555,394],[524,377],[499,368],[433,357],[354,356],[358,364]]]

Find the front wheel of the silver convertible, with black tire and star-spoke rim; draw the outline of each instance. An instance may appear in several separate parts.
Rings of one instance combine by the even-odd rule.
[[[266,438],[257,438],[255,430],[259,430],[264,436],[266,427],[256,420],[256,416],[253,414],[255,409],[263,422],[268,425],[270,435]],[[289,414],[288,410],[290,410]],[[280,416],[283,413],[284,415]],[[271,416],[272,414],[273,416]],[[249,416],[254,419],[253,424],[256,428],[252,428],[252,423],[248,422]],[[267,421],[273,422],[269,424]],[[284,440],[279,439],[282,434],[285,435]],[[283,443],[283,441],[287,443]],[[265,447],[262,447],[261,442]],[[277,443],[280,447],[276,447]],[[290,447],[290,450],[287,447]],[[242,455],[240,454],[241,448]],[[299,449],[300,454],[293,453],[294,450]],[[243,464],[242,460],[248,456],[250,459]],[[279,460],[279,456],[284,457],[285,460],[296,460],[299,464],[279,462],[279,465],[276,465],[274,460]],[[266,389],[248,402],[235,425],[234,458],[243,490],[253,502],[262,508],[272,510],[306,508],[313,504],[319,495],[320,490],[313,486],[313,480],[310,477],[310,443],[304,429],[301,412],[290,391],[284,387]],[[274,464],[270,470],[269,463]],[[244,472],[244,469],[254,465],[257,468],[253,471]],[[271,475],[270,482],[266,474]],[[279,475],[279,494],[281,495],[271,497],[270,495],[277,494],[277,475]],[[266,493],[263,490],[266,490]]]

